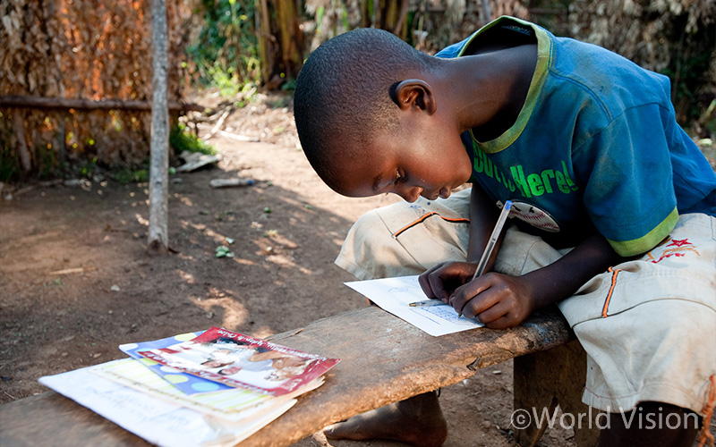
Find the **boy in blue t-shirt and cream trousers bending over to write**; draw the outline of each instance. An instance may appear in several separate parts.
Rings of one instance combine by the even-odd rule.
[[[558,302],[588,354],[583,401],[609,413],[601,445],[691,445],[716,387],[716,175],[669,80],[509,17],[438,56],[354,30],[299,74],[296,127],[321,179],[408,202],[362,217],[337,264],[420,273],[430,298],[490,328]],[[471,281],[508,199],[515,225]],[[682,424],[626,424],[650,415]],[[326,434],[432,446],[447,429],[427,393]]]

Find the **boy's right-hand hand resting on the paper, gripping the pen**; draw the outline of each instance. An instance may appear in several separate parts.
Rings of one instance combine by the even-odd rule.
[[[535,309],[531,286],[524,277],[489,273],[456,289],[448,304],[457,313],[476,317],[490,329],[522,323]]]

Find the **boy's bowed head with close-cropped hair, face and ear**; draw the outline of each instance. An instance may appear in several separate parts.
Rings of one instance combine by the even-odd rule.
[[[454,122],[436,111],[439,59],[388,31],[359,29],[316,49],[296,81],[303,151],[346,196],[447,197],[470,176]],[[452,148],[453,150],[447,150]]]

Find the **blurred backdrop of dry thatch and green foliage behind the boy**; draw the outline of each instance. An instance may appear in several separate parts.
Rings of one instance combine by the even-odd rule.
[[[0,0],[5,46],[0,97],[149,100],[147,4]],[[389,30],[433,54],[508,14],[668,75],[679,122],[697,139],[714,139],[716,133],[716,0],[177,0],[166,5],[174,101],[205,88],[229,100],[241,98],[237,106],[250,102],[256,91],[289,95],[311,50],[346,30]],[[177,151],[198,146],[185,131],[186,138],[175,139],[183,141]],[[25,154],[19,150],[22,140]],[[126,170],[144,164],[148,155],[147,111],[11,108],[0,102],[0,181],[74,175],[77,169],[68,166],[86,170],[88,161]]]

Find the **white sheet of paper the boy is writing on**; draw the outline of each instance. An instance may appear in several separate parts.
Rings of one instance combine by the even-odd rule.
[[[482,326],[482,323],[473,318],[465,316],[458,318],[455,309],[447,304],[429,308],[408,306],[412,302],[428,299],[418,283],[417,275],[353,281],[345,283],[345,285],[362,293],[380,308],[404,319],[426,333],[430,333],[430,335],[457,333]]]

